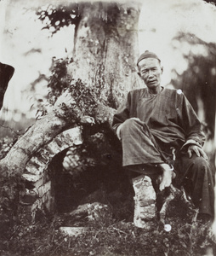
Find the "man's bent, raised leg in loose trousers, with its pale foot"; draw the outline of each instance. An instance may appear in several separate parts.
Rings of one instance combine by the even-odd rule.
[[[156,166],[156,172],[162,173],[159,189],[165,189],[172,183],[173,170],[162,160],[162,155],[158,150],[156,142],[152,141],[153,136],[148,126],[139,119],[126,120],[121,128],[122,151],[123,151],[123,166],[132,168],[135,172],[146,173],[143,169],[144,165]],[[140,167],[141,166],[141,167]],[[152,168],[148,167],[150,172]],[[148,172],[148,170],[147,170]],[[152,173],[153,174],[153,173]]]

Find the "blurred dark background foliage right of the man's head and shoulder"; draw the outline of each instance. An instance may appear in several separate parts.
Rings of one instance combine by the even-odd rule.
[[[216,98],[216,44],[208,44],[190,33],[179,33],[173,39],[178,40],[180,44],[189,45],[190,51],[184,55],[188,68],[180,74],[173,71],[176,79],[172,79],[171,83],[176,89],[184,91],[196,113],[202,113],[204,116],[203,128],[207,138],[213,138]],[[198,53],[194,52],[194,49],[199,49]]]

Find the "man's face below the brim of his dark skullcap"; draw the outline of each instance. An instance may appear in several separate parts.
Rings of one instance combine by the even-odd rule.
[[[139,75],[149,89],[154,89],[161,84],[161,64],[154,58],[139,61]]]

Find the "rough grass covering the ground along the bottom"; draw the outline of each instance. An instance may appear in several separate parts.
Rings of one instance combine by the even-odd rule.
[[[200,256],[205,247],[215,247],[213,234],[206,225],[182,218],[169,218],[169,232],[158,230],[154,219],[145,229],[106,214],[84,223],[88,231],[81,236],[63,236],[59,228],[65,224],[65,215],[47,218],[41,214],[36,224],[20,226],[14,236],[1,241],[1,255]]]

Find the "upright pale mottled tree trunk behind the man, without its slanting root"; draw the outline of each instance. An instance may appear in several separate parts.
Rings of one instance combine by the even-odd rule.
[[[112,108],[127,90],[142,82],[136,73],[140,3],[92,3],[82,6],[70,73],[99,90]]]

